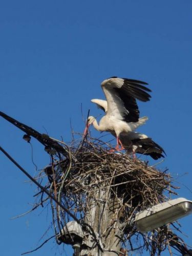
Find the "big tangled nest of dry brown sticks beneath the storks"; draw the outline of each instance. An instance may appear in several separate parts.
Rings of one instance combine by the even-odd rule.
[[[85,194],[110,186],[113,194],[122,199],[123,205],[137,210],[165,201],[164,191],[173,187],[170,176],[160,172],[147,162],[133,159],[126,153],[110,153],[100,141],[87,141],[79,150],[73,152],[70,173],[62,185],[65,194]],[[57,171],[65,173],[67,163]],[[125,209],[125,212],[127,209]],[[129,209],[130,212],[130,209]]]

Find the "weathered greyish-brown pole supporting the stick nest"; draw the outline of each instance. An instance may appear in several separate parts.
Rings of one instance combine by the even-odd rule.
[[[97,177],[98,180],[100,177]],[[94,248],[82,249],[80,255],[113,256],[120,253],[120,239],[116,236],[119,230],[119,204],[112,195],[109,182],[98,182],[94,191],[88,195],[88,208],[85,222],[92,226],[99,244]],[[103,251],[101,250],[103,249]]]

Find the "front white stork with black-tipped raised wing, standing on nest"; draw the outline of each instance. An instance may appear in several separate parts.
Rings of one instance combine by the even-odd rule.
[[[101,118],[99,124],[97,120],[90,116],[87,120],[87,126],[84,134],[87,134],[88,127],[93,124],[97,131],[115,132],[117,138],[116,150],[119,150],[120,134],[127,134],[134,131],[138,126],[143,124],[147,118],[139,120],[139,109],[136,99],[141,101],[150,100],[151,92],[142,84],[147,84],[139,80],[111,77],[101,83],[101,88],[107,101],[107,111]]]

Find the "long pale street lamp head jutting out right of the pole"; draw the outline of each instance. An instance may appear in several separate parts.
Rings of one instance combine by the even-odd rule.
[[[138,212],[135,217],[135,224],[140,232],[145,233],[183,218],[191,212],[192,201],[177,198]]]

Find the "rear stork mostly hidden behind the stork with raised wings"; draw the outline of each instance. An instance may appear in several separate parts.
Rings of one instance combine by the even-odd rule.
[[[95,103],[98,108],[102,109],[105,113],[108,111],[108,102],[106,100],[92,99],[91,102]],[[143,124],[147,119],[147,117],[139,118],[138,126]],[[114,131],[111,132],[111,134],[116,137]],[[134,157],[135,153],[150,155],[155,160],[164,157],[162,155],[162,153],[165,154],[163,148],[145,134],[132,131],[127,134],[120,134],[119,139],[126,152],[133,153]]]

